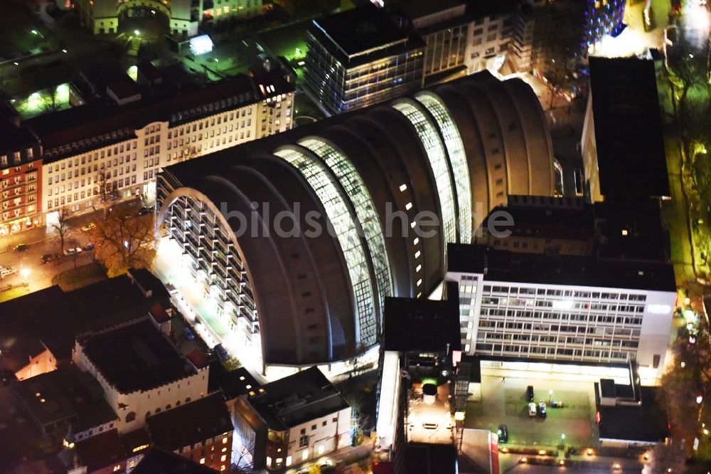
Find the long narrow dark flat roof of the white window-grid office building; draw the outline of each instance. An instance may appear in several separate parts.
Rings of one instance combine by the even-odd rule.
[[[483,273],[485,281],[675,291],[670,263],[513,253],[450,243],[447,269]]]

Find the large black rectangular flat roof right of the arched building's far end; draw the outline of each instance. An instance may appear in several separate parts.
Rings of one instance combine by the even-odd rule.
[[[669,196],[654,61],[591,57],[589,63],[601,193]]]

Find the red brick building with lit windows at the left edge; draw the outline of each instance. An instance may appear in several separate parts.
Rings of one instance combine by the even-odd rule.
[[[42,223],[40,142],[14,118],[0,121],[0,236]]]

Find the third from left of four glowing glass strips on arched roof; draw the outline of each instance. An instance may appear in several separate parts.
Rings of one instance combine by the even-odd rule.
[[[449,164],[447,163],[447,153],[444,151],[444,145],[439,138],[437,127],[415,105],[407,102],[397,102],[392,107],[402,112],[402,115],[405,115],[407,120],[410,120],[412,125],[415,126],[415,130],[417,130],[417,135],[422,140],[437,184],[439,204],[442,207],[444,243],[456,243],[456,210],[454,209],[454,194],[451,189],[452,179],[449,172]]]

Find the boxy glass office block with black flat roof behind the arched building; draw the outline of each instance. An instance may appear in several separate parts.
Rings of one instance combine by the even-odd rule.
[[[405,20],[375,6],[314,20],[306,36],[306,90],[340,114],[422,88],[426,45]]]

